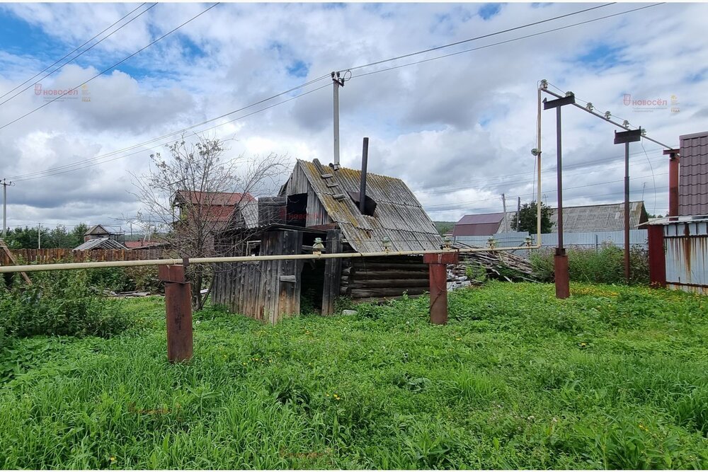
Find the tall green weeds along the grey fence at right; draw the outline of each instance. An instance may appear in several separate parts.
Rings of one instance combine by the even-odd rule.
[[[600,284],[624,283],[624,250],[617,246],[595,248],[569,248],[568,270],[570,279],[576,282]],[[534,251],[531,265],[535,276],[543,282],[554,280],[553,249]],[[631,248],[629,251],[630,283],[649,283],[649,255],[645,249]]]

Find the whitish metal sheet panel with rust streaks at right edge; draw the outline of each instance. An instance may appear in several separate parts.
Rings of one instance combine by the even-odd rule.
[[[708,221],[666,224],[666,285],[708,294]]]

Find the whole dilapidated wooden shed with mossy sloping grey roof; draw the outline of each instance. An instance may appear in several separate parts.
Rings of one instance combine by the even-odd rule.
[[[259,227],[219,234],[230,255],[312,253],[315,238],[325,253],[440,249],[442,239],[420,202],[398,178],[368,173],[360,210],[361,171],[297,161],[279,195],[258,202]],[[388,242],[390,241],[390,242]],[[419,295],[428,290],[422,256],[273,260],[217,265],[216,304],[275,323],[302,310],[333,313],[338,297],[353,301]]]

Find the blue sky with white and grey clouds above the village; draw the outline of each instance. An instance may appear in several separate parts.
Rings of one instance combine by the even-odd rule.
[[[681,134],[708,128],[705,4],[663,4],[516,40],[650,5],[613,4],[360,69],[354,68],[601,4],[219,4],[76,96],[47,102],[44,91],[78,86],[210,5],[0,5],[0,179],[16,182],[8,188],[8,226],[85,221],[125,229],[120,218],[140,209],[129,172],[144,171],[149,154],[164,152],[169,141],[155,138],[333,70],[352,69],[341,90],[343,165],[360,165],[361,139],[370,137],[370,171],[404,179],[433,219],[501,211],[502,193],[510,207],[517,197],[531,200],[541,79],[670,146]],[[30,79],[126,15],[81,57]],[[307,94],[296,98],[301,93]],[[627,94],[666,105],[625,105]],[[553,111],[543,113],[542,193],[552,206],[554,120]],[[565,204],[622,201],[624,150],[612,144],[612,125],[565,108],[563,127]],[[206,128],[207,136],[229,139],[229,158],[275,152],[329,163],[331,80],[193,131]],[[643,197],[650,213],[665,214],[661,146],[636,143],[630,153],[632,200]],[[87,159],[98,165],[42,173]]]

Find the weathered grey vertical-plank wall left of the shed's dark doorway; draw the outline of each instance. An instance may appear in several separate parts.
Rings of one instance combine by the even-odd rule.
[[[261,255],[299,254],[301,248],[301,231],[268,231],[261,238]],[[216,270],[215,304],[268,323],[299,313],[302,261],[222,263]]]

